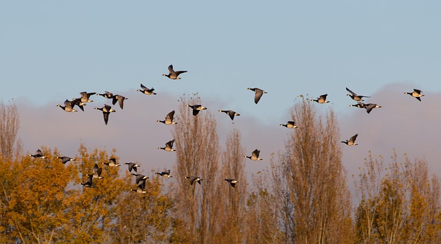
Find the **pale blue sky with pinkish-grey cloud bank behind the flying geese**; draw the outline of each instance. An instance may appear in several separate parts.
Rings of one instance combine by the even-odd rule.
[[[116,148],[124,162],[171,168],[171,140],[156,123],[178,109],[183,94],[198,93],[218,122],[221,144],[233,128],[269,165],[283,149],[289,111],[300,95],[328,93],[342,140],[358,133],[358,146],[343,146],[348,175],[368,152],[438,163],[441,111],[439,1],[3,1],[0,3],[0,99],[17,104],[25,151],[57,146],[75,155],[80,143]],[[187,70],[170,80],[168,65]],[[136,91],[154,87],[157,96]],[[248,87],[268,93],[258,104]],[[369,115],[345,87],[382,105]],[[418,102],[404,91],[418,88]],[[85,112],[57,104],[80,91],[112,91],[129,98],[105,126],[98,96]],[[234,120],[218,109],[240,113]],[[387,160],[386,160],[387,161]]]

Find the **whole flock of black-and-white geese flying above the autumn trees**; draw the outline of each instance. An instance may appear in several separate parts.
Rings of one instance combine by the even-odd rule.
[[[170,78],[172,80],[181,79],[181,77],[179,77],[179,75],[187,72],[187,71],[174,71],[173,65],[170,65],[168,67],[168,71],[169,71],[169,74],[163,74],[163,76],[166,76],[167,78]],[[263,89],[259,89],[257,87],[248,88],[248,90],[254,91],[254,102],[256,104],[260,101],[260,98],[262,98],[263,94],[267,93]],[[350,107],[357,107],[360,109],[366,109],[367,113],[371,113],[372,109],[378,109],[381,107],[380,105],[375,104],[375,103],[367,103],[367,104],[363,103],[365,101],[365,100],[363,100],[363,98],[370,98],[369,96],[360,96],[357,93],[354,93],[353,91],[348,89],[347,87],[346,87],[346,90],[349,92],[347,94],[347,96],[349,96],[352,100],[357,102],[357,104],[350,104],[349,105]],[[153,87],[147,88],[143,84],[141,84],[141,89],[137,89],[136,91],[140,91],[141,93],[144,93],[145,95],[156,95]],[[409,94],[413,98],[418,99],[420,102],[421,102],[421,97],[424,96],[422,94],[422,91],[419,89],[413,89],[413,91],[404,92],[404,94]],[[110,91],[105,91],[105,93],[95,93],[95,92],[83,91],[83,92],[80,92],[80,95],[81,96],[79,98],[72,98],[72,100],[66,99],[64,102],[64,106],[61,106],[61,104],[57,104],[57,107],[61,107],[61,109],[63,109],[66,112],[70,112],[70,113],[77,111],[74,109],[75,106],[79,107],[81,109],[81,111],[84,111],[84,106],[88,102],[93,102],[93,100],[90,100],[90,96],[96,95],[96,96],[103,96],[103,98],[107,98],[107,99],[112,100],[113,105],[115,105],[116,102],[118,102],[119,107],[121,109],[123,109],[124,101],[127,100],[127,98],[125,98],[125,96],[121,96],[119,94],[114,95]],[[329,102],[326,99],[327,99],[327,94],[324,94],[324,95],[319,96],[316,99],[311,99],[311,101],[318,102],[319,104],[326,104]],[[201,104],[186,104],[185,107],[191,108],[192,114],[194,116],[198,115],[198,113],[200,111],[207,109],[206,107],[203,107]],[[95,107],[94,109],[101,110],[103,112],[103,118],[104,118],[105,124],[107,124],[107,122],[109,120],[110,113],[115,112],[115,110],[112,109],[112,106],[110,106],[108,104],[104,104],[104,106],[101,108]],[[235,116],[240,115],[239,113],[236,113],[236,111],[233,111],[233,110],[219,110],[219,112],[226,113],[229,116],[229,118],[231,118],[231,120],[234,120]],[[167,125],[177,124],[177,122],[173,121],[174,113],[175,113],[175,111],[171,111],[170,113],[168,113],[165,116],[164,120],[157,120],[157,122],[167,124]],[[294,121],[288,121],[287,124],[280,124],[280,126],[285,126],[288,129],[298,128],[298,126],[296,125],[296,122],[294,122]],[[358,144],[356,144],[357,136],[358,136],[358,134],[353,135],[349,140],[342,141],[342,143],[345,143],[348,146],[356,146],[356,145],[358,145]],[[161,150],[164,150],[167,152],[176,151],[176,149],[173,148],[173,144],[174,144],[174,140],[170,140],[169,142],[167,142],[165,144],[164,147],[158,147],[158,149],[161,149]],[[259,154],[260,154],[260,151],[258,149],[256,149],[252,152],[252,155],[250,155],[250,156],[245,155],[244,157],[247,157],[253,161],[263,160],[262,158],[259,157]],[[46,156],[43,155],[43,153],[40,149],[38,149],[34,155],[29,155],[29,156],[35,157],[35,158],[47,158]],[[61,159],[61,162],[63,164],[66,164],[67,162],[75,160],[72,157],[65,157],[65,156],[63,156],[63,157],[57,156],[56,158]],[[110,158],[110,159],[108,159],[108,162],[103,162],[102,164],[107,165],[108,167],[121,166],[121,164],[116,162],[115,158]],[[127,164],[128,170],[130,173],[132,172],[132,170],[134,171],[134,173],[132,173],[132,175],[134,175],[134,177],[135,177],[136,184],[139,184],[136,187],[136,189],[130,189],[130,190],[137,192],[137,193],[146,193],[147,191],[145,190],[145,181],[147,179],[149,179],[149,177],[137,173],[137,168],[140,167],[139,164],[136,164],[134,162],[127,162],[125,164]],[[85,181],[84,183],[79,182],[79,184],[81,184],[85,187],[89,187],[89,188],[96,187],[96,186],[94,186],[94,184],[92,184],[92,180],[93,179],[103,179],[103,177],[101,176],[102,170],[103,169],[99,168],[98,164],[95,163],[94,167],[92,168],[92,173],[86,174],[86,176],[88,177],[87,181]],[[165,170],[163,172],[156,172],[155,174],[159,175],[161,177],[165,177],[165,178],[173,177],[172,175],[170,175],[170,170]],[[201,184],[201,181],[203,180],[201,177],[198,177],[198,176],[185,176],[185,179],[189,179],[190,185],[193,185],[195,181],[198,184]],[[238,181],[236,179],[224,179],[224,180],[227,181],[233,188],[236,186],[236,183],[238,183]]]

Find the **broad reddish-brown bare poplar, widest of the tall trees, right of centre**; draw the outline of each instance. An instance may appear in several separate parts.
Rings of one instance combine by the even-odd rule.
[[[329,109],[323,121],[315,105],[301,99],[291,111],[298,128],[279,162],[271,160],[283,236],[286,243],[349,243],[351,205],[336,115]]]

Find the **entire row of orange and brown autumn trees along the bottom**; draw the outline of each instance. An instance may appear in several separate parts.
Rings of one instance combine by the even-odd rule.
[[[423,159],[369,153],[352,176],[354,204],[334,111],[320,116],[300,98],[291,109],[299,128],[267,170],[247,177],[240,131],[220,145],[214,116],[192,115],[190,100],[201,102],[182,98],[172,130],[174,177],[148,175],[145,194],[131,191],[134,177],[118,167],[100,165],[96,188],[79,185],[96,162],[119,159],[116,150],[81,144],[65,165],[54,159],[57,148],[41,148],[47,159],[28,157],[17,108],[1,103],[0,242],[441,243],[440,182]],[[184,178],[193,175],[201,185]]]

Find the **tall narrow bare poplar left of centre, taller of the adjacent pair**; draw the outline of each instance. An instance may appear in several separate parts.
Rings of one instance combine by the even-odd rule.
[[[210,243],[216,226],[220,182],[219,146],[216,121],[209,111],[192,115],[187,104],[201,104],[200,98],[181,98],[174,125],[176,144],[176,217],[174,242]],[[203,179],[190,186],[184,177]]]

